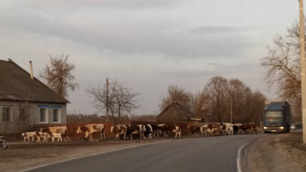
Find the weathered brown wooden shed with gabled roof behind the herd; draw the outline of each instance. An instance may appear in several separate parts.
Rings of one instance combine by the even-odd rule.
[[[186,123],[189,121],[205,122],[205,119],[194,115],[187,107],[179,103],[171,103],[156,117],[156,121]]]

